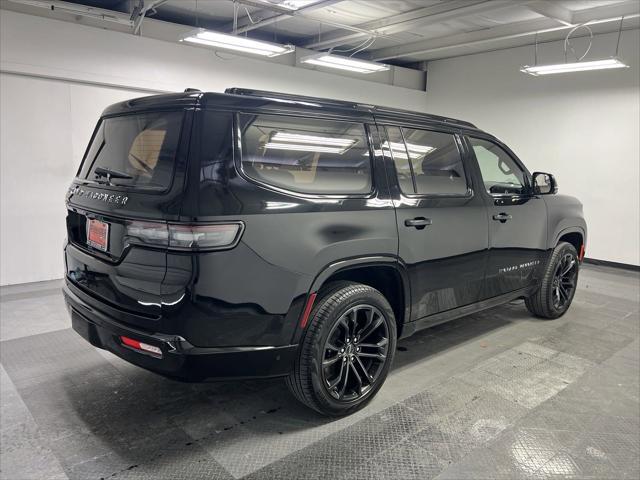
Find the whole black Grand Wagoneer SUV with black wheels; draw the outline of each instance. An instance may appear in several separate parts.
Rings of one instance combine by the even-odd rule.
[[[468,122],[272,92],[107,108],[67,194],[64,294],[91,344],[199,381],[286,377],[344,415],[396,342],[524,298],[569,308],[586,225]]]

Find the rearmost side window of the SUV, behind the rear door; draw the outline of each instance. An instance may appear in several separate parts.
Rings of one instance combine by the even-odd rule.
[[[242,169],[251,178],[311,194],[371,191],[364,125],[276,115],[240,115]]]

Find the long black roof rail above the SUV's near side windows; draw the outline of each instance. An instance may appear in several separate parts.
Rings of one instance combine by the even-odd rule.
[[[224,93],[227,93],[230,95],[246,95],[248,97],[276,98],[279,100],[289,100],[291,102],[320,103],[322,105],[333,105],[333,106],[342,107],[342,108],[352,108],[357,110],[367,110],[371,112],[403,115],[405,117],[414,117],[414,118],[421,118],[421,119],[428,118],[430,120],[435,120],[437,122],[453,123],[456,125],[463,125],[471,128],[477,128],[471,122],[466,122],[464,120],[458,120],[455,118],[442,117],[439,115],[432,115],[430,113],[414,112],[411,110],[402,110],[399,108],[381,107],[378,105],[347,102],[344,100],[335,100],[335,99],[321,98],[321,97],[308,97],[304,95],[295,95],[291,93],[270,92],[267,90],[252,90],[248,88],[237,88],[237,87],[227,88],[224,91]]]

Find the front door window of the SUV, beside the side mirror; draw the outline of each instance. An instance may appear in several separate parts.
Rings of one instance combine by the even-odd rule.
[[[487,192],[526,193],[525,173],[518,164],[501,147],[493,142],[479,138],[469,138],[478,160],[482,181]]]

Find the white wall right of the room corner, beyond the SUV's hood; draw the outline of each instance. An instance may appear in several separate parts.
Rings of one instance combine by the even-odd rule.
[[[613,55],[617,35],[596,36],[589,58]],[[576,41],[576,51],[584,40]],[[580,47],[580,48],[578,48]],[[640,34],[625,31],[631,68],[532,77],[533,47],[429,62],[432,113],[475,123],[507,143],[530,170],[556,175],[560,192],[584,204],[587,256],[640,264]],[[539,63],[563,60],[545,44]]]

